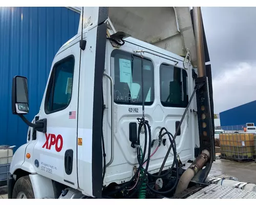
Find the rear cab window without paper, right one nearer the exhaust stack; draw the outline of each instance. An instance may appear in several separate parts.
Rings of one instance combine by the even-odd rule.
[[[184,69],[166,64],[160,66],[160,100],[165,107],[187,106],[187,72]]]

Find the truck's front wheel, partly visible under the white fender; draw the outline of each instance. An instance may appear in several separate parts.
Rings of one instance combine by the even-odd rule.
[[[20,177],[13,188],[13,199],[34,199],[34,192],[29,176]]]

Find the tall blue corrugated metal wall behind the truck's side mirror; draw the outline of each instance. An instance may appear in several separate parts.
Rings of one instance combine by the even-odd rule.
[[[11,113],[12,77],[28,78],[31,121],[38,113],[52,60],[77,33],[79,17],[66,7],[0,7],[0,145],[26,143],[28,126]]]

